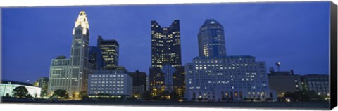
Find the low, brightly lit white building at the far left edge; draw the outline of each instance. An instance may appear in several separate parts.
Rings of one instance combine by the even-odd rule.
[[[37,86],[32,86],[32,84],[27,84],[19,81],[1,81],[0,84],[0,96],[4,97],[6,95],[14,96],[13,89],[18,86],[25,86],[28,93],[34,98],[40,98],[41,88]]]

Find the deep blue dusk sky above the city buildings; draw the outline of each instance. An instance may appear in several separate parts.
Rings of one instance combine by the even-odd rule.
[[[70,57],[72,31],[87,13],[90,46],[97,35],[120,44],[119,65],[149,73],[151,20],[180,20],[182,64],[198,55],[197,33],[213,18],[225,28],[227,55],[252,55],[296,74],[329,73],[329,7],[325,2],[58,6],[2,8],[2,79],[49,77],[51,59]]]

